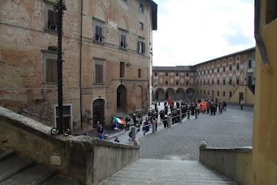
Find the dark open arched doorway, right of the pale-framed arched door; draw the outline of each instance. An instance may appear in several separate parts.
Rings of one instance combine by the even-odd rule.
[[[119,85],[116,90],[116,111],[125,113],[127,108],[127,90],[124,85]]]

